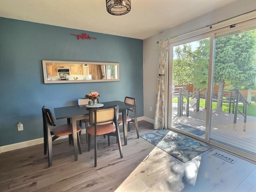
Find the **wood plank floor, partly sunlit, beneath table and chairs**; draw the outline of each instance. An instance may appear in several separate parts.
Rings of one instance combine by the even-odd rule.
[[[153,124],[140,121],[140,134],[152,131]],[[121,133],[122,134],[122,133]],[[122,136],[122,135],[121,135]],[[94,150],[88,152],[85,135],[82,152],[74,162],[68,139],[53,142],[53,162],[48,168],[43,144],[0,154],[1,192],[255,192],[256,164],[215,148],[187,163],[136,138],[132,124],[128,145],[120,158],[115,138],[98,139],[98,166]],[[122,140],[123,143],[123,140]],[[226,162],[212,154],[219,152],[236,160]]]

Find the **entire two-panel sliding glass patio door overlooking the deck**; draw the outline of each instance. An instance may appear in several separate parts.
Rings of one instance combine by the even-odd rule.
[[[256,159],[256,19],[175,40],[168,128]]]

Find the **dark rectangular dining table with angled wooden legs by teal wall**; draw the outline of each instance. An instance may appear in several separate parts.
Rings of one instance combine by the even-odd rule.
[[[102,102],[104,104],[103,107],[110,106],[119,106],[119,112],[122,112],[122,120],[124,125],[124,145],[127,145],[127,122],[126,122],[126,109],[134,108],[134,123],[136,130],[138,130],[138,121],[136,114],[136,105],[131,105],[122,101],[110,101],[110,102]],[[77,146],[77,135],[76,135],[76,121],[88,118],[90,108],[87,108],[86,105],[76,105],[76,106],[66,106],[54,108],[55,118],[56,119],[71,119],[72,122],[72,131],[73,131],[73,145],[74,145],[74,156],[75,161],[78,160],[78,146]],[[139,138],[139,134],[137,131],[137,138]]]

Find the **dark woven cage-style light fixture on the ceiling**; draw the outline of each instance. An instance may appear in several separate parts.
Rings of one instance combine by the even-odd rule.
[[[106,0],[107,12],[112,15],[125,15],[131,10],[131,0]]]

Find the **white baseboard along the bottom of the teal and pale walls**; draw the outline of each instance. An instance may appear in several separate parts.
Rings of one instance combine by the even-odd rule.
[[[150,118],[146,118],[144,116],[138,117],[137,120],[138,121],[145,120],[150,123],[154,123],[154,120],[152,120]],[[82,129],[81,134],[85,134],[85,129]],[[62,136],[62,137],[59,137],[58,139],[64,139],[64,138],[68,138],[68,136]],[[12,150],[29,147],[29,146],[33,146],[33,145],[38,145],[38,144],[42,144],[42,143],[44,143],[44,138],[24,141],[24,142],[20,142],[20,143],[14,143],[14,144],[5,145],[5,146],[0,146],[0,154],[3,152],[12,151]]]

